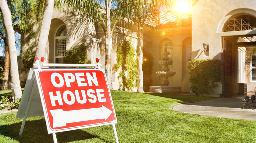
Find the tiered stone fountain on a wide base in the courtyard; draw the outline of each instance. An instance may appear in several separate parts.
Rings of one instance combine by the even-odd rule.
[[[174,76],[176,73],[170,71],[168,68],[169,65],[172,64],[172,60],[169,60],[168,55],[170,52],[167,52],[167,47],[164,47],[164,51],[161,52],[163,55],[162,60],[159,61],[159,64],[164,66],[162,71],[156,72],[157,76],[163,77],[161,81],[162,86],[150,86],[149,92],[154,93],[181,93],[181,87],[171,87],[169,85],[168,77]]]

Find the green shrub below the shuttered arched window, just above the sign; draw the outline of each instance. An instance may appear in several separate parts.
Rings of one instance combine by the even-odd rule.
[[[77,48],[66,50],[63,55],[64,62],[67,64],[89,64],[91,60],[87,59],[87,46],[81,42]]]

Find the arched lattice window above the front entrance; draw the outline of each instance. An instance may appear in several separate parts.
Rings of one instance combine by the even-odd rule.
[[[250,14],[239,13],[230,17],[224,24],[222,32],[255,30],[256,18]]]

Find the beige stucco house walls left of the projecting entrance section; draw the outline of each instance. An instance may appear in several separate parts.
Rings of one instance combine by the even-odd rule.
[[[100,58],[100,64],[105,68],[105,35],[102,28],[99,26],[97,32],[93,25],[86,24],[86,22],[79,22],[73,16],[67,16],[64,12],[58,12],[54,9],[52,22],[49,32],[49,63],[54,63],[54,36],[56,31],[62,25],[67,27],[67,49],[76,47],[80,42],[85,42],[88,47],[88,59],[92,60],[92,63],[95,62],[95,58]],[[149,28],[144,28],[143,31],[144,37],[143,40],[146,43],[150,43],[152,47],[150,48],[151,52],[154,55],[154,67],[152,73],[152,85],[160,86],[161,78],[158,77],[155,72],[161,71],[161,66],[158,61],[162,59],[162,44],[166,39],[169,39],[172,42],[173,46],[173,71],[176,72],[176,75],[170,77],[168,80],[170,82],[169,86],[181,86],[182,92],[189,92],[189,76],[188,71],[184,67],[184,47],[183,42],[185,39],[191,39],[191,27],[181,28],[181,29],[165,29],[154,31]],[[163,35],[162,32],[165,32]],[[131,39],[133,41],[133,46],[136,49],[137,47],[137,29],[134,26],[127,28],[117,28],[113,34],[113,48],[112,48],[112,65],[116,64],[116,45],[121,43],[123,38]],[[95,41],[97,44],[93,44]],[[118,77],[118,72],[112,73],[112,85],[114,90],[118,90],[120,80]],[[132,89],[136,91],[136,88]]]

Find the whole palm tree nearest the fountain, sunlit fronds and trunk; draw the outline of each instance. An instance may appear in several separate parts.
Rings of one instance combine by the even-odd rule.
[[[177,12],[176,4],[179,1],[187,2],[192,6],[193,0],[121,0],[117,10],[122,17],[131,20],[137,26],[137,61],[138,87],[137,92],[143,92],[143,27],[146,23],[158,25],[159,15],[164,11]],[[181,14],[177,13],[176,27],[181,25]]]

